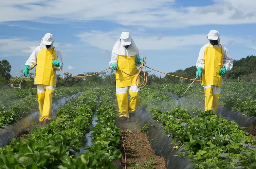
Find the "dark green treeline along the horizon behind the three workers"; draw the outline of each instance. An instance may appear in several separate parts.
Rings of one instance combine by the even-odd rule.
[[[11,65],[7,60],[0,61],[0,87],[10,83],[16,77],[10,75]],[[20,75],[22,75],[20,71]],[[78,76],[92,75],[96,72],[82,73]],[[196,66],[186,68],[184,70],[177,70],[168,74],[186,77],[190,79],[195,78]],[[170,84],[170,83],[190,83],[190,80],[185,80],[177,77],[165,75],[158,77],[147,72],[148,84]],[[240,60],[234,60],[233,68],[223,77],[225,81],[256,81],[256,56],[247,56]],[[141,73],[141,80],[143,80],[143,73]],[[107,71],[91,77],[72,77],[65,75],[57,75],[57,86],[95,86],[95,85],[111,85],[115,86],[115,71]],[[21,78],[13,83],[13,86],[21,86],[25,88],[35,88],[34,73],[29,73],[28,78]]]

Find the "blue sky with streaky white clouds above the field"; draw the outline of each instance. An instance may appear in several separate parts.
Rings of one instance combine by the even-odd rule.
[[[63,70],[96,72],[108,67],[113,45],[129,31],[147,65],[168,73],[195,65],[211,29],[238,60],[256,55],[255,8],[251,0],[1,1],[0,60],[8,60],[12,76],[18,76],[51,33]]]

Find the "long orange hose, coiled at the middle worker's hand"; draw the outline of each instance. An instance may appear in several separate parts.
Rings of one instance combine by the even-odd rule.
[[[53,50],[53,51],[54,51],[54,50]],[[53,51],[52,51],[52,52],[53,52]],[[54,60],[53,54],[52,54],[52,59]],[[146,57],[144,56],[144,57],[143,57],[142,65],[141,65],[141,67],[137,70],[137,72],[136,72],[135,74],[128,74],[128,73],[125,73],[123,70],[120,70],[120,69],[118,69],[118,68],[117,68],[117,70],[119,70],[119,71],[121,71],[121,72],[123,72],[123,73],[125,73],[126,75],[129,75],[129,76],[134,76],[134,75],[136,75],[136,74],[138,73],[138,76],[136,77],[136,86],[137,86],[138,88],[140,88],[140,89],[144,88],[144,87],[147,85],[147,82],[148,82],[148,77],[147,77],[147,70],[146,70],[146,68],[149,68],[149,69],[154,70],[154,71],[159,72],[159,73],[163,73],[163,74],[165,74],[165,75],[169,75],[169,76],[178,77],[178,78],[181,78],[181,79],[187,79],[187,80],[193,80],[193,81],[194,81],[194,79],[189,79],[189,78],[185,78],[185,77],[170,75],[170,74],[168,74],[168,73],[164,73],[164,72],[161,72],[161,71],[159,71],[159,70],[155,70],[155,69],[153,69],[153,68],[150,68],[150,67],[148,67],[148,66],[146,66],[146,65],[144,64],[145,61],[146,61]],[[56,66],[56,67],[57,67],[57,66]],[[102,73],[102,72],[104,72],[104,71],[110,69],[110,68],[106,68],[106,69],[104,69],[104,70],[102,70],[102,71],[100,71],[100,72],[97,72],[97,73],[93,74],[93,75],[76,76],[76,75],[71,75],[71,74],[65,72],[64,70],[60,69],[59,67],[57,67],[57,68],[58,68],[60,71],[62,71],[63,73],[65,73],[65,74],[67,74],[67,75],[69,75],[69,76],[73,76],[73,77],[91,77],[91,76],[100,74],[100,73]],[[142,70],[143,70],[144,80],[143,80],[143,82],[142,82],[141,84],[138,84],[138,78],[140,77],[140,74],[141,74],[141,71],[142,71]],[[195,81],[201,81],[201,80],[195,80]]]

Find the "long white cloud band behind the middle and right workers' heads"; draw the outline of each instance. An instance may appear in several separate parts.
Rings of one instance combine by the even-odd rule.
[[[81,41],[86,42],[91,46],[98,47],[106,51],[112,51],[112,48],[117,39],[120,37],[122,31],[124,30],[118,29],[110,32],[91,31],[83,32],[77,36]],[[205,34],[192,34],[186,36],[164,36],[161,34],[159,36],[143,36],[141,31],[140,33],[135,31],[132,38],[140,50],[182,49],[183,47],[203,45],[208,42]],[[221,43],[223,45],[232,45],[244,42],[246,42],[246,40],[243,38],[240,38],[239,41],[236,41],[236,39],[221,36]],[[185,48],[183,48],[183,50],[184,49]]]

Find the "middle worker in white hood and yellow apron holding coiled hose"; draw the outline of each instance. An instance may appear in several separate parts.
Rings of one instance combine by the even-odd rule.
[[[136,47],[130,33],[122,32],[113,47],[111,61],[109,62],[110,68],[116,70],[116,95],[120,121],[131,120],[139,107],[138,95],[140,89],[136,86],[136,78],[139,74],[137,66],[142,63],[139,49]],[[120,70],[132,76],[126,75]],[[137,84],[140,84],[139,78]],[[130,95],[129,103],[128,93]]]

